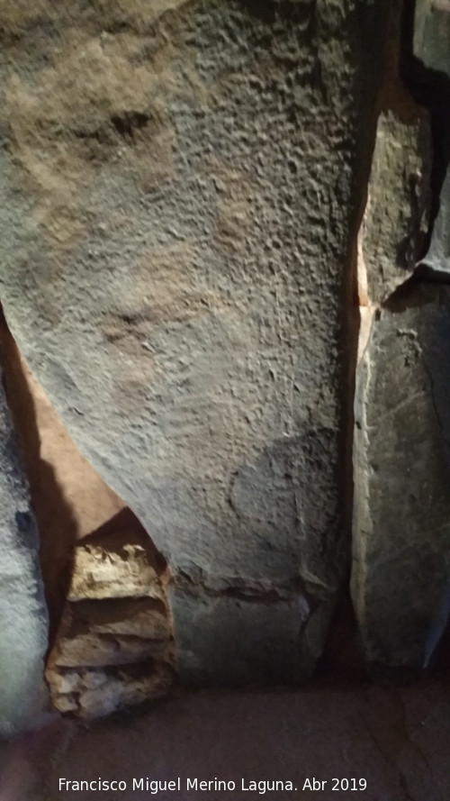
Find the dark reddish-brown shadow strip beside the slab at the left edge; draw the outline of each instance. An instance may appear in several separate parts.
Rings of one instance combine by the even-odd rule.
[[[0,361],[4,386],[40,534],[40,569],[49,609],[49,646],[67,597],[76,542],[76,520],[55,471],[40,456],[36,409],[23,375],[20,353],[0,307]]]

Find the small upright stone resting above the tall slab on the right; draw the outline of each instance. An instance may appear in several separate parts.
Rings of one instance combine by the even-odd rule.
[[[359,300],[381,304],[413,274],[429,224],[431,131],[426,109],[404,99],[380,114],[360,232]]]

